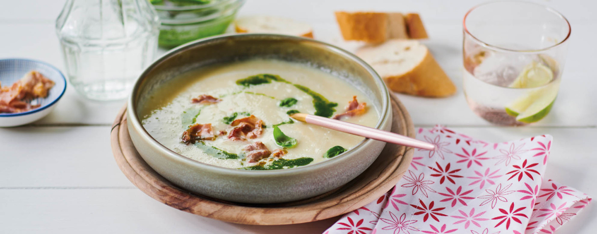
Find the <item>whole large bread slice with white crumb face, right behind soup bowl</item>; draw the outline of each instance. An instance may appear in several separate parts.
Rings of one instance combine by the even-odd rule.
[[[423,97],[446,97],[456,87],[427,47],[415,40],[392,39],[356,51],[386,81],[390,90]]]

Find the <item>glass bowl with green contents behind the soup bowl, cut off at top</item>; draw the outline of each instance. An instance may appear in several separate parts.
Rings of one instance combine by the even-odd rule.
[[[224,33],[246,0],[153,0],[161,21],[158,45],[174,48]]]

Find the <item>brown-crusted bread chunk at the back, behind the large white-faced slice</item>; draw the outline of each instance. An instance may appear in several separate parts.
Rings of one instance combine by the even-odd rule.
[[[408,38],[401,13],[337,11],[336,20],[347,41],[381,43],[391,38]]]

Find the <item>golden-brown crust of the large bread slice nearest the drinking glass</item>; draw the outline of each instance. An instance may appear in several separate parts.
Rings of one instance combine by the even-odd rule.
[[[442,70],[432,54],[427,54],[414,69],[402,75],[384,77],[390,90],[423,97],[447,97],[456,93],[456,86]]]

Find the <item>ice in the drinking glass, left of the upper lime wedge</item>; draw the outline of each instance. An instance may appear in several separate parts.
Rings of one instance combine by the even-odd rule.
[[[533,61],[541,59],[536,54],[493,53],[475,67],[473,75],[489,84],[508,87]]]

